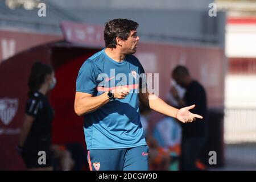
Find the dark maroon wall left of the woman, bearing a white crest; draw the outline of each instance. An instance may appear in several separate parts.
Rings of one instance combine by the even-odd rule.
[[[6,98],[18,100],[18,110],[8,125],[0,122],[0,169],[24,169],[22,159],[15,150],[18,144],[20,128],[24,118],[24,106],[27,100],[27,79],[30,68],[36,60],[50,63],[49,50],[43,47],[23,52],[0,65],[0,100]],[[7,109],[14,106],[8,105]],[[5,111],[6,111],[5,110]],[[0,118],[0,120],[2,120]]]

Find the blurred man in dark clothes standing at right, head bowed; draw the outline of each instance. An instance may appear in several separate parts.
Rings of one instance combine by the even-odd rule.
[[[203,86],[193,80],[188,69],[181,65],[172,71],[172,78],[186,89],[183,99],[179,98],[175,88],[171,89],[179,106],[196,105],[192,111],[203,116],[203,119],[197,119],[192,123],[180,123],[182,127],[180,169],[199,170],[196,161],[207,137],[207,95]]]

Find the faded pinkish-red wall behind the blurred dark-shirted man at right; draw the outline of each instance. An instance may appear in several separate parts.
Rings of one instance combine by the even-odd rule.
[[[175,46],[160,43],[139,43],[135,56],[147,73],[159,73],[159,96],[166,99],[170,89],[171,71],[177,64],[185,65],[191,76],[205,88],[209,108],[224,108],[224,49],[210,46]],[[163,115],[153,112],[154,123]]]

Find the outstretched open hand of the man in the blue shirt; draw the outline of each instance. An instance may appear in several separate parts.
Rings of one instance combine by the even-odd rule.
[[[179,119],[179,121],[183,123],[187,122],[193,122],[196,120],[196,118],[203,119],[201,115],[198,114],[193,114],[189,112],[189,110],[193,109],[196,105],[188,106],[188,107],[183,107],[177,111],[176,118]]]

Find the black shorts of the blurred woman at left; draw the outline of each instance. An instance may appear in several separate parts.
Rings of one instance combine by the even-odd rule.
[[[44,155],[45,152],[45,155]],[[38,151],[22,152],[22,159],[27,168],[43,168],[52,167],[53,155],[52,152],[47,150],[42,153]]]

